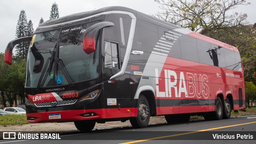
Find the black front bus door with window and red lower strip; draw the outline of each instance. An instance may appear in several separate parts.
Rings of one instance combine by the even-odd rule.
[[[120,72],[120,50],[118,42],[104,41],[103,79],[104,105],[107,108],[107,118],[130,117],[130,76],[122,75],[112,78]]]

